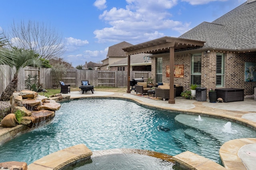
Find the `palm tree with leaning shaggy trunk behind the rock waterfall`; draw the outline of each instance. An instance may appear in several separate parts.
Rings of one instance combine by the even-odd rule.
[[[8,101],[12,96],[12,93],[18,88],[18,72],[20,68],[24,68],[25,66],[41,66],[42,61],[38,58],[38,54],[36,54],[33,50],[24,50],[13,48],[11,52],[12,56],[16,56],[17,59],[12,60],[13,62],[9,62],[8,65],[11,68],[14,68],[14,77],[10,84],[5,88],[4,92],[1,95],[1,101]]]

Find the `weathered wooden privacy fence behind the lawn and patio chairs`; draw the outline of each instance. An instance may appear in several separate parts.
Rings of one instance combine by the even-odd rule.
[[[0,95],[12,81],[14,72],[9,66],[0,65]],[[127,71],[104,71],[104,70],[67,70],[67,74],[62,78],[65,84],[70,84],[71,87],[79,87],[81,80],[88,80],[91,85],[96,87],[107,86],[107,87],[127,87]],[[56,88],[58,83],[54,81],[51,76],[51,68],[38,68],[26,66],[21,68],[18,74],[18,90],[25,89],[27,84],[26,80],[28,75],[38,75],[38,81],[43,84],[43,88]],[[142,78],[146,82],[151,77],[150,71],[131,71],[130,80],[134,78]]]

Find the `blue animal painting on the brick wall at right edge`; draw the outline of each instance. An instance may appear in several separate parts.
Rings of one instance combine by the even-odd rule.
[[[256,63],[245,62],[244,81],[256,82]]]

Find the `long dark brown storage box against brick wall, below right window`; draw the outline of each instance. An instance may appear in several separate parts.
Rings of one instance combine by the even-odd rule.
[[[244,101],[244,89],[239,88],[217,88],[217,98],[222,98],[223,102]]]

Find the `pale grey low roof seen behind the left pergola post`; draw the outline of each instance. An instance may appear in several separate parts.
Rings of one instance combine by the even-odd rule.
[[[145,57],[150,57],[151,54],[145,54],[145,53],[140,53],[140,54],[135,54],[135,55],[131,55],[131,59],[130,59],[130,64],[131,65],[151,65],[151,58],[149,60],[147,60],[146,62],[146,58]],[[113,64],[110,64],[109,66],[126,66],[128,63],[127,57],[125,59],[121,59]]]

